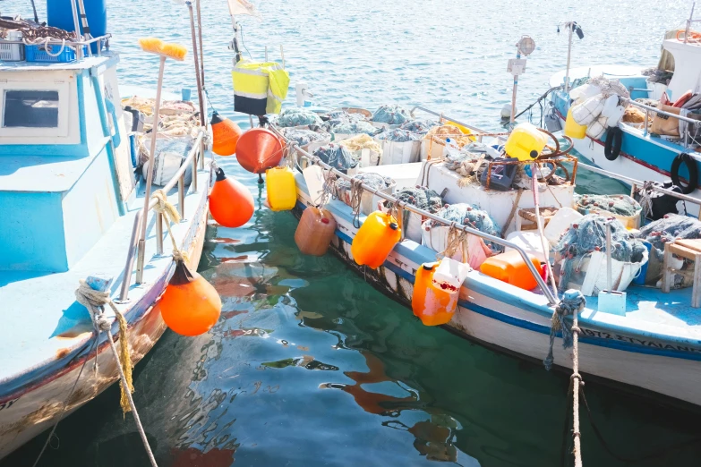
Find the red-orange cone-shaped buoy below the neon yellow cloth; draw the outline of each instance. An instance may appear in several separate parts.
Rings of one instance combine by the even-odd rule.
[[[262,174],[282,160],[283,145],[275,135],[265,128],[252,128],[241,135],[236,147],[236,158],[244,169],[253,174]]]

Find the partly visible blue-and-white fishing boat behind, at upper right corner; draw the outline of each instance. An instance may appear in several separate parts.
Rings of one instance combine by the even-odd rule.
[[[652,69],[617,64],[569,69],[568,65],[566,70],[552,75],[551,90],[547,93],[551,112],[553,120],[566,127],[565,132],[568,132],[568,112],[592,97],[580,95],[585,89],[582,85],[603,80],[618,82],[623,88],[613,94],[619,95],[620,106],[626,108],[625,115],[604,124],[608,126],[605,132],[587,131],[586,135],[577,136],[580,138],[575,140],[577,152],[595,166],[615,174],[658,183],[671,179],[684,193],[701,198],[697,168],[701,161],[698,152],[701,122],[694,104],[701,76],[701,35],[693,29],[699,21],[694,19],[692,8],[686,29],[671,30],[663,39],[663,55]],[[578,26],[568,22],[565,27],[571,49],[572,30]],[[577,118],[570,115],[570,120]],[[698,214],[697,205],[687,208],[689,213]]]

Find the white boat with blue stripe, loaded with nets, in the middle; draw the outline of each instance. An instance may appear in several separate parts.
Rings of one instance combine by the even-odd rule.
[[[346,109],[346,112],[348,110]],[[438,117],[444,124],[449,123],[459,127],[466,134],[456,138],[466,138],[468,141],[466,144],[473,150],[482,148],[487,153],[495,151],[498,155],[498,151],[503,148],[504,135],[495,136],[494,133],[474,128],[468,123],[421,106],[416,106],[408,114],[413,120],[420,113],[428,114],[433,118]],[[280,121],[283,120],[283,115],[280,116]],[[338,117],[338,114],[336,116]],[[335,115],[332,113],[330,118],[335,118]],[[497,247],[497,250],[504,248],[514,250],[512,253],[520,255],[517,260],[523,259],[520,269],[515,269],[514,274],[518,279],[526,276],[527,282],[531,282],[532,285],[519,285],[517,284],[519,281],[514,280],[514,277],[509,279],[485,274],[484,267],[475,265],[466,274],[460,287],[457,310],[445,326],[468,339],[540,361],[543,361],[551,352],[552,336],[554,337],[554,364],[563,368],[573,367],[572,351],[562,350],[563,335],[560,331],[552,330],[553,314],[558,314],[557,310],[563,300],[567,299],[567,293],[562,290],[562,287],[553,290],[551,284],[543,277],[543,270],[538,267],[538,262],[533,261],[534,255],[540,255],[540,266],[543,266],[546,261],[551,261],[547,250],[540,249],[537,240],[530,243],[522,242],[521,234],[528,228],[526,224],[533,220],[534,208],[536,212],[541,209],[544,216],[546,212],[544,207],[551,207],[554,211],[567,210],[568,207],[581,203],[574,192],[577,170],[593,170],[614,178],[617,177],[616,174],[577,163],[576,157],[568,155],[568,149],[551,151],[548,156],[540,157],[538,163],[544,166],[551,165],[551,168],[554,167],[553,164],[568,166],[568,174],[557,183],[541,185],[537,189],[540,191],[538,193],[540,198],[536,202],[533,191],[527,187],[519,194],[519,190],[509,188],[504,191],[496,187],[490,189],[474,178],[471,180],[466,178],[465,174],[461,174],[460,167],[456,168],[455,161],[443,152],[448,150],[449,145],[445,137],[440,143],[441,146],[438,147],[440,149],[437,153],[438,157],[425,157],[424,145],[424,150],[416,153],[423,156],[402,159],[397,157],[396,147],[392,149],[391,143],[382,142],[376,135],[374,137],[376,142],[384,146],[384,153],[379,158],[380,162],[375,159],[375,162],[368,164],[367,161],[372,161],[372,157],[358,155],[357,160],[361,162],[348,171],[338,166],[340,157],[329,161],[329,157],[324,155],[324,151],[328,151],[329,146],[321,146],[319,149],[318,144],[313,146],[312,143],[312,149],[308,149],[308,140],[300,141],[296,139],[296,135],[290,137],[299,127],[290,129],[272,125],[271,128],[295,149],[297,168],[295,215],[302,217],[307,209],[325,208],[336,222],[330,249],[346,263],[347,267],[353,268],[367,282],[411,309],[413,301],[416,300],[415,284],[419,280],[420,270],[423,267],[432,267],[426,265],[444,258],[446,254],[451,254],[444,250],[447,244],[446,238],[449,238],[451,230],[474,235],[475,238],[490,243],[492,247]],[[385,132],[391,131],[389,128],[385,130]],[[347,137],[347,134],[340,135],[334,143],[336,147],[344,145],[342,139]],[[303,147],[302,143],[307,143],[307,146]],[[330,148],[333,147],[332,144]],[[388,154],[388,150],[391,154]],[[546,152],[548,152],[547,149]],[[363,159],[365,163],[362,162]],[[321,170],[321,175],[317,175],[316,181],[313,176],[310,177],[304,172],[313,166]],[[487,171],[491,170],[492,168],[487,169]],[[559,168],[558,173],[562,173]],[[359,177],[362,174],[379,174],[385,179],[391,178],[387,184],[389,188],[378,188],[376,185],[367,183],[367,177]],[[346,191],[339,190],[339,181],[346,183]],[[351,187],[351,191],[354,191],[350,195],[347,192],[348,186]],[[399,199],[400,191],[414,187],[427,188],[440,193],[440,203],[446,203],[444,208],[450,208],[456,203],[463,203],[463,205],[469,203],[475,210],[483,209],[480,211],[483,212],[480,216],[492,217],[495,224],[503,226],[503,229],[498,233],[489,234],[480,230],[474,222],[470,222],[470,219],[466,218],[465,222],[456,222],[440,217],[435,211],[429,212],[426,208],[417,208],[411,202],[407,202],[406,198]],[[660,188],[660,190],[664,189]],[[688,202],[695,200],[680,193],[674,194]],[[623,196],[621,195],[621,199]],[[378,201],[384,204],[378,205]],[[401,210],[404,210],[403,214],[398,213]],[[371,267],[367,266],[367,262],[363,266],[363,262],[355,258],[353,245],[363,223],[368,222],[368,219],[375,222],[376,218],[372,218],[375,213],[372,211],[389,213],[386,215],[394,219],[391,222],[402,226],[403,234],[400,241],[396,244],[391,243],[393,246],[390,246],[389,255]],[[407,214],[408,224],[406,223]],[[418,223],[415,225],[421,225],[418,237],[415,225],[414,227],[410,225],[412,222]],[[551,220],[551,222],[554,221]],[[558,238],[565,234],[568,228],[577,229],[577,222],[575,221],[574,224],[568,222],[566,225],[557,227],[559,231],[564,232],[558,232],[554,241],[557,243]],[[430,227],[431,223],[432,227]],[[531,228],[534,227],[531,226]],[[304,232],[307,233],[307,231]],[[538,238],[537,234],[535,238]],[[298,245],[304,243],[300,242],[297,236],[295,240],[298,241]],[[300,248],[303,247],[300,246]],[[599,247],[596,250],[598,253]],[[491,255],[494,252],[487,254]],[[498,257],[500,257],[499,254],[492,258]],[[558,260],[555,261],[556,267]],[[578,314],[580,329],[578,371],[646,395],[655,393],[655,397],[658,398],[659,395],[665,395],[677,399],[677,402],[701,404],[701,393],[697,390],[698,384],[701,383],[701,376],[699,376],[701,375],[699,372],[701,368],[699,366],[701,364],[699,363],[701,360],[699,324],[701,323],[698,321],[697,308],[692,307],[692,291],[689,288],[682,288],[671,290],[667,294],[655,288],[654,285],[643,286],[639,280],[637,282],[640,284],[635,282],[630,284],[631,281],[635,281],[635,276],[644,276],[645,273],[639,273],[639,267],[628,268],[632,266],[628,264],[628,267],[620,267],[613,273],[614,284],[611,284],[611,275],[608,276],[608,290],[614,293],[617,288],[626,290],[629,284],[627,296],[622,301],[623,308],[611,310],[607,300],[610,297],[602,295],[602,292],[606,294],[603,291],[606,286],[606,277],[601,276],[601,271],[605,271],[606,265],[610,263],[611,259],[608,259],[608,263],[604,259],[603,262],[597,263],[598,267],[590,267],[594,276],[599,274],[598,279],[594,280],[600,284],[603,279],[604,284],[594,287],[594,292],[590,288],[586,293],[588,295],[586,305],[583,305],[584,308]],[[599,272],[596,272],[597,270]],[[573,281],[568,283],[570,286],[572,284]],[[581,282],[576,286],[583,289],[587,287]],[[596,291],[597,287],[599,293]],[[693,304],[697,306],[698,302],[695,301]],[[416,310],[415,314],[417,314]],[[568,321],[568,319],[565,320]]]

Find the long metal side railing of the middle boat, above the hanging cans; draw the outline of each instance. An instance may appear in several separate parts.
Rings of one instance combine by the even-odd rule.
[[[428,110],[424,109],[423,107],[416,106],[415,109],[416,108],[420,108],[423,111],[427,111],[428,113],[433,114],[432,111],[428,111]],[[438,114],[436,114],[436,115],[438,115]],[[460,124],[460,125],[464,125],[464,126],[466,126],[466,128],[469,128],[470,130],[482,132],[481,130],[478,130],[474,127],[470,127],[464,123],[457,122],[455,119],[448,118],[448,120],[450,120],[451,122],[455,122],[457,124]],[[324,168],[325,170],[329,171],[330,173],[336,175],[337,177],[343,178],[343,179],[353,183],[352,182],[353,177],[351,177],[347,174],[344,174],[343,172],[338,171],[337,169],[333,168],[332,166],[329,166],[328,164],[324,163],[319,157],[313,156],[312,154],[310,154],[306,150],[300,148],[299,145],[295,141],[288,140],[285,137],[285,135],[282,134],[282,132],[279,132],[278,128],[275,127],[274,125],[270,125],[270,128],[272,129],[273,132],[275,132],[278,135],[279,138],[286,140],[287,144],[292,149],[295,149],[295,157],[296,157],[296,155],[301,154],[303,157],[308,158],[314,164],[321,166],[322,168]],[[456,228],[458,230],[465,232],[466,234],[473,234],[473,235],[480,237],[483,240],[486,240],[488,242],[494,242],[494,243],[501,245],[503,247],[509,247],[509,248],[514,249],[514,250],[517,250],[518,253],[521,255],[521,258],[523,258],[524,262],[526,263],[526,266],[528,267],[528,270],[530,271],[531,275],[534,276],[535,282],[540,287],[541,292],[543,293],[545,298],[548,300],[548,303],[550,305],[553,305],[553,306],[558,303],[557,297],[552,293],[551,289],[548,288],[548,285],[545,284],[545,281],[543,280],[543,276],[540,275],[540,272],[534,267],[533,263],[531,262],[531,259],[528,258],[528,255],[526,254],[526,250],[521,248],[516,243],[509,242],[508,240],[504,240],[500,237],[497,237],[497,236],[494,236],[491,234],[485,234],[477,229],[474,229],[472,227],[468,227],[466,225],[457,224],[456,222],[448,221],[448,220],[446,220],[442,217],[438,217],[438,216],[436,216],[428,211],[424,211],[421,208],[416,208],[414,205],[407,204],[405,201],[398,200],[397,198],[385,193],[384,191],[375,190],[374,188],[372,188],[372,186],[369,186],[365,183],[361,183],[360,186],[363,188],[364,191],[370,191],[373,195],[381,198],[382,200],[386,200],[386,201],[389,201],[390,203],[393,203],[398,208],[406,209],[410,212],[418,214],[419,216],[429,218],[438,224],[445,225],[447,227]]]

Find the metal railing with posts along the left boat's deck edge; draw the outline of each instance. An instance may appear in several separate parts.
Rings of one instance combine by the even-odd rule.
[[[198,165],[200,170],[204,169],[204,135],[205,129],[201,128],[200,132],[197,133],[197,138],[192,144],[192,149],[185,157],[183,164],[175,172],[173,177],[166,183],[162,191],[166,193],[171,191],[175,185],[177,185],[178,202],[177,208],[180,217],[185,215],[185,171],[188,166],[192,166],[192,192],[197,192],[197,170]],[[158,200],[151,199],[148,211],[151,211],[158,204]],[[156,254],[163,254],[163,214],[160,212],[154,213],[156,219]],[[144,217],[147,217],[144,219]],[[132,284],[132,271],[134,265],[134,258],[136,257],[136,284],[143,284],[143,268],[146,258],[146,242],[139,239],[139,233],[141,231],[141,222],[148,223],[148,212],[144,216],[143,208],[136,213],[134,217],[134,225],[132,228],[132,236],[129,241],[129,250],[126,255],[126,264],[124,265],[124,273],[122,275],[122,288],[119,293],[119,301],[126,302],[129,301],[129,287]],[[166,222],[169,222],[166,219]]]

